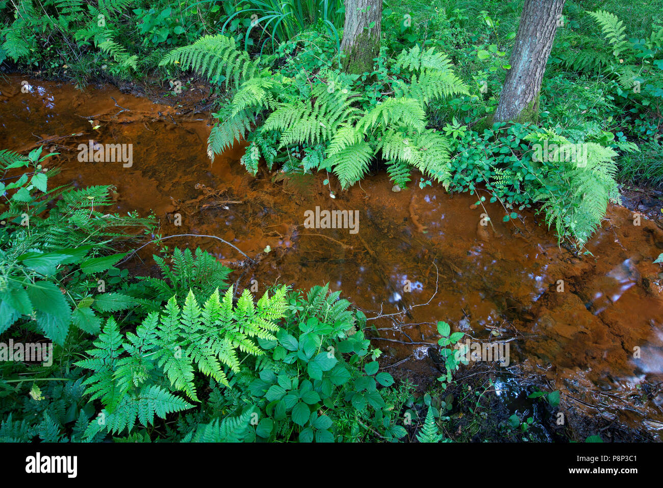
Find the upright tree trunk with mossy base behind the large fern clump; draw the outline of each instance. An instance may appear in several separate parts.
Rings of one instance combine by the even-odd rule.
[[[373,70],[380,52],[382,0],[345,0],[345,25],[341,51],[345,72],[361,74]],[[371,27],[373,25],[373,27]]]

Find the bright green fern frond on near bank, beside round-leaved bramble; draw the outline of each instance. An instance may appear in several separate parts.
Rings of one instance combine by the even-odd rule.
[[[195,372],[229,386],[224,369],[239,372],[238,353],[261,355],[253,337],[275,339],[276,321],[285,309],[280,287],[272,297],[267,293],[254,305],[245,290],[233,307],[233,289],[223,298],[214,291],[200,307],[192,291],[184,307],[175,297],[159,315],[152,312],[135,333],[122,335],[112,317],[90,349],[88,359],[76,365],[93,371],[84,384],[90,400],[103,404],[103,422],[92,422],[86,436],[100,430],[131,432],[136,420],[152,425],[154,416],[191,408],[192,404],[173,392],[198,398]]]

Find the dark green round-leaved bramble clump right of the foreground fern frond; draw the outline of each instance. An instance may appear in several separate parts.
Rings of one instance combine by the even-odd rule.
[[[288,301],[276,339],[260,341],[267,355],[257,361],[258,374],[240,380],[250,392],[244,402],[259,409],[255,435],[299,442],[404,436],[398,411],[385,400],[394,380],[379,372],[375,351],[369,352],[363,314],[349,310],[327,285]]]

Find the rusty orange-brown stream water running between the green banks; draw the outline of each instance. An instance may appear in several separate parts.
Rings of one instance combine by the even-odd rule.
[[[166,241],[209,250],[242,286],[329,282],[369,317],[407,310],[371,321],[387,364],[406,360],[398,367],[436,374],[426,348],[444,320],[476,339],[511,340],[511,367],[561,390],[568,422],[601,414],[663,434],[663,280],[653,264],[663,231],[653,222],[634,226],[633,212],[611,206],[587,244],[591,254],[574,256],[532,212],[505,224],[499,204],[475,208],[477,197],[441,187],[394,193],[378,173],[340,191],[330,177],[331,199],[325,174],[288,178],[263,168],[252,177],[239,164],[240,144],[210,164],[209,114],[191,110],[196,94],[164,106],[115,88],[34,80],[23,93],[23,79],[0,83],[0,148],[60,152],[47,161],[62,170],[51,185],[115,185],[114,211],[152,210],[164,236],[208,234],[252,258],[261,253],[243,268],[243,256],[217,240]],[[90,139],[133,144],[133,165],[79,162],[78,144]],[[305,228],[304,212],[316,206],[358,210],[358,232]],[[492,226],[481,225],[483,213]],[[152,250],[127,264],[149,265]]]

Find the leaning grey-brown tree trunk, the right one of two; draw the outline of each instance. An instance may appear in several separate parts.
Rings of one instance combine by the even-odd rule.
[[[563,7],[564,0],[525,0],[494,122],[526,122],[538,114],[539,90]]]

